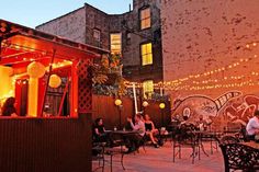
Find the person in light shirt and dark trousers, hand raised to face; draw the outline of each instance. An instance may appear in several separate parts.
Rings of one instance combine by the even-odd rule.
[[[127,152],[132,152],[137,150],[140,147],[143,137],[145,135],[145,124],[142,121],[142,115],[140,114],[136,114],[135,117],[135,124],[133,124],[132,118],[127,117],[127,122],[131,124],[131,127],[133,130],[137,131],[134,135],[130,135],[128,138],[128,145],[126,145],[126,147],[128,148]]]

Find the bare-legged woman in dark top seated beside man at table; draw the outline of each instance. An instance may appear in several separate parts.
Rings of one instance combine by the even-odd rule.
[[[155,135],[158,134],[158,129],[155,128],[155,125],[153,123],[153,121],[150,119],[150,116],[148,114],[146,114],[144,116],[145,119],[145,128],[146,128],[146,135],[150,138],[153,145],[155,146],[155,148],[159,148],[158,144],[157,144],[157,139],[155,138]]]

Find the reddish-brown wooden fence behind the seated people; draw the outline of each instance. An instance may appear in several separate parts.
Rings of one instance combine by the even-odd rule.
[[[113,96],[105,96],[105,95],[93,95],[92,101],[92,110],[93,116],[92,118],[95,119],[97,117],[102,117],[104,119],[105,128],[112,129],[114,126],[119,126],[120,124],[120,110],[114,104],[115,99]],[[122,108],[121,108],[121,118],[122,118],[122,126],[126,124],[126,117],[133,116],[135,113],[134,102],[131,98],[122,98]],[[145,113],[149,114],[151,119],[155,122],[156,126],[160,127],[164,117],[164,124],[168,124],[170,122],[170,102],[166,103],[166,108],[160,110],[159,103],[156,101],[149,101],[149,105],[144,110],[140,106],[138,101],[138,108],[140,111],[145,111]],[[139,111],[139,110],[138,110]]]

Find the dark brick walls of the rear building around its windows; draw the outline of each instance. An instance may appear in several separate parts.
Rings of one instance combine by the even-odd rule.
[[[146,4],[151,8],[153,26],[150,30],[139,31],[138,12],[139,9]],[[46,22],[36,28],[104,49],[110,49],[110,33],[122,32],[122,64],[124,66],[124,77],[134,81],[145,79],[160,81],[162,78],[161,41],[159,38],[160,1],[134,0],[133,7],[133,11],[112,15],[86,3],[83,8]],[[126,21],[127,27],[135,34],[131,34],[131,36],[127,37],[128,32],[127,28],[123,27],[123,21]],[[93,38],[94,28],[101,32],[101,42],[97,42]],[[154,65],[151,67],[142,67],[139,45],[148,39],[154,39],[154,37],[156,37],[156,42],[154,42]]]

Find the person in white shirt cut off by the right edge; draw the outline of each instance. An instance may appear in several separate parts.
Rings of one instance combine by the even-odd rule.
[[[255,140],[256,135],[259,135],[259,111],[256,111],[254,117],[249,119],[246,130],[249,140]]]

